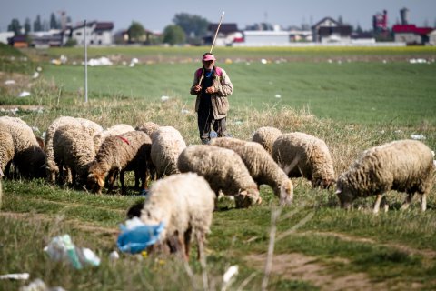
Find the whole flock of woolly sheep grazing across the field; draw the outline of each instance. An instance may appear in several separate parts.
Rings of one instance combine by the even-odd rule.
[[[352,206],[357,197],[377,196],[373,211],[378,212],[381,203],[387,206],[384,193],[397,190],[407,193],[401,208],[418,193],[425,210],[434,173],[431,149],[415,140],[368,149],[336,179],[328,146],[304,133],[261,127],[251,141],[220,137],[210,145],[186,146],[171,126],[146,122],[135,128],[122,124],[103,129],[69,116],[54,120],[45,141],[20,118],[0,117],[1,176],[12,176],[11,163],[20,176],[45,177],[94,193],[104,187],[112,191],[118,176],[125,193],[124,172],[134,171],[135,187],[148,195],[128,215],[139,216],[145,224],[163,222],[163,245],[186,258],[192,236],[203,248],[221,194],[233,196],[236,207],[249,207],[262,203],[259,186],[268,185],[287,206],[293,199],[290,178],[302,176],[313,187],[336,185],[343,207]],[[0,202],[1,194],[0,188]]]

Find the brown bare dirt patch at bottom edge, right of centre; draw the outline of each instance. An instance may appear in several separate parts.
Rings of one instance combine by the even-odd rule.
[[[247,261],[263,269],[266,254],[251,255]],[[373,282],[364,273],[353,273],[346,276],[338,276],[329,273],[328,266],[317,263],[314,256],[304,256],[298,253],[276,255],[272,260],[272,274],[280,275],[290,280],[302,280],[317,286],[321,290],[386,290],[382,282]],[[341,260],[346,264],[346,260]]]

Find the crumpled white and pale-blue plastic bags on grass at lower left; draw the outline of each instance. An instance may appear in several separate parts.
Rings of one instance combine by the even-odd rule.
[[[100,265],[100,258],[92,250],[74,246],[69,235],[55,236],[48,246],[45,246],[44,251],[54,261],[67,259],[76,269],[81,269],[84,265]]]

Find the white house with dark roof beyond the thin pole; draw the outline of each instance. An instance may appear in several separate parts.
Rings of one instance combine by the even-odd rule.
[[[113,45],[112,22],[89,22],[86,23],[86,44],[87,45]],[[84,24],[77,25],[71,29],[70,37],[77,42],[77,45],[84,45]]]

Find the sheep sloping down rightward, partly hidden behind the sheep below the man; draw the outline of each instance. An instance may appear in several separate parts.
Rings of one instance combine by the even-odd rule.
[[[272,156],[263,146],[232,137],[213,138],[210,145],[228,148],[236,152],[243,159],[243,163],[257,185],[271,186],[274,195],[280,198],[282,205],[291,204],[293,198],[292,181],[274,162]]]

